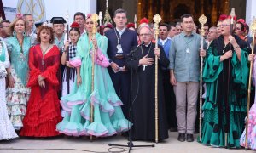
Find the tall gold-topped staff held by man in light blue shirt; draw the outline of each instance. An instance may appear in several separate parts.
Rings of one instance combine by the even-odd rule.
[[[201,23],[201,50],[203,49],[204,45],[204,35],[205,35],[205,30],[204,30],[204,25],[207,23],[207,17],[202,14],[201,17],[199,18],[199,22]],[[202,70],[203,70],[203,57],[200,59],[200,112],[199,112],[199,141],[201,142],[201,107],[202,107]]]

